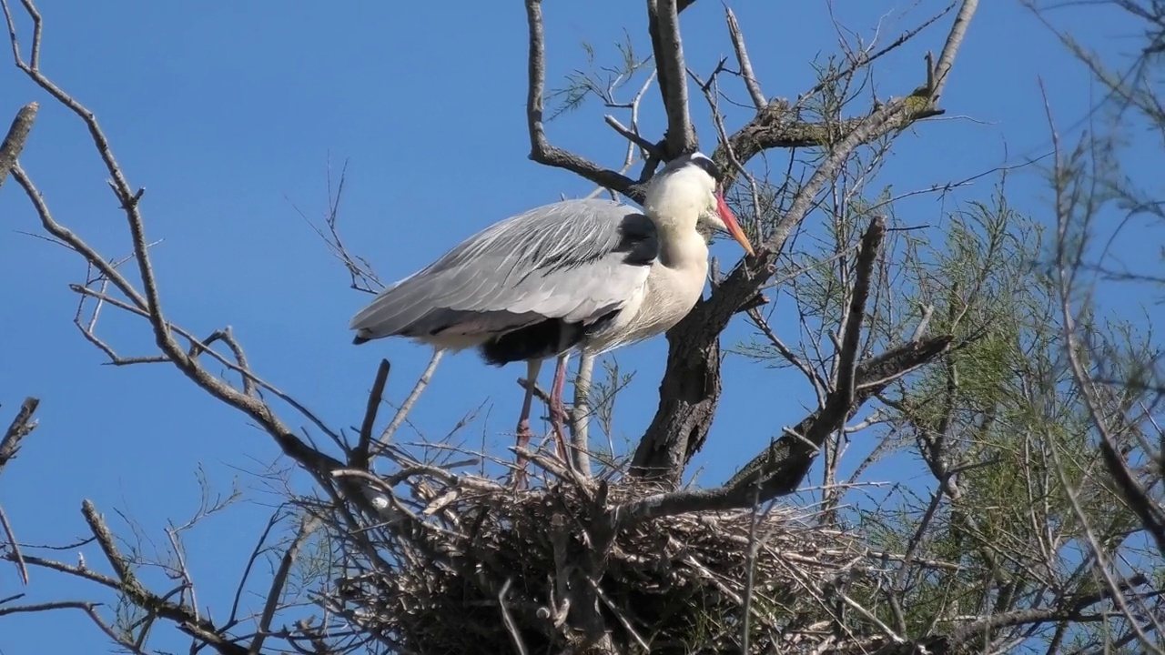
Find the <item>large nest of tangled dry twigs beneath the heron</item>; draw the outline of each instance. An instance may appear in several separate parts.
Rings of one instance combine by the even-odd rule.
[[[746,625],[749,652],[799,650],[827,638],[828,590],[866,561],[804,510],[613,528],[613,507],[658,490],[559,480],[515,492],[433,469],[402,494],[401,479],[377,498],[379,524],[333,535],[347,575],[325,598],[398,653],[740,652]]]

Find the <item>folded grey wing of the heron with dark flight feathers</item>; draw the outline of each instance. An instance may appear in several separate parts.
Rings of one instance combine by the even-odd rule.
[[[659,251],[627,205],[565,200],[466,239],[352,319],[359,341],[394,334],[489,337],[546,319],[586,325],[635,297]]]

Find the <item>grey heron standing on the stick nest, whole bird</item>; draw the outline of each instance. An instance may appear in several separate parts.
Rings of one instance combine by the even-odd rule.
[[[436,348],[474,347],[496,366],[525,361],[518,448],[531,437],[542,362],[558,357],[550,414],[569,463],[562,396],[570,351],[599,354],[663,333],[687,315],[708,273],[699,224],[728,232],[753,254],[722,186],[720,168],[692,153],[651,178],[642,212],[578,199],[496,223],[376,296],[352,318],[353,343],[401,336]]]

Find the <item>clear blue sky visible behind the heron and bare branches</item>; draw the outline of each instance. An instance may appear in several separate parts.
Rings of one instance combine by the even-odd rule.
[[[548,86],[585,65],[582,41],[609,56],[626,29],[649,51],[640,5],[548,3]],[[888,41],[942,3],[923,2],[902,20],[902,8],[912,5],[849,0],[834,2],[833,10],[867,38],[885,16]],[[811,59],[838,50],[825,3],[732,6],[769,96],[796,97],[813,83]],[[388,394],[400,401],[430,353],[403,340],[350,345],[348,318],[368,298],[347,289],[343,268],[292,207],[324,211],[329,157],[337,170],[350,161],[344,234],[386,281],[490,223],[591,190],[527,159],[522,3],[425,7],[123,0],[42,7],[43,70],[98,114],[130,184],[147,188],[142,207],[149,238],[164,239],[154,262],[171,319],[203,334],[231,325],[256,371],[337,424],[359,422],[381,357],[393,361]],[[1110,15],[1065,13],[1060,24],[1118,55],[1136,45],[1137,34],[1109,22]],[[689,64],[697,70],[709,71],[730,54],[719,2],[697,2],[682,22]],[[922,82],[922,55],[941,48],[948,23],[887,57],[877,69],[882,93],[905,93]],[[27,47],[27,24],[21,29]],[[1082,66],[1018,2],[983,2],[941,103],[947,117],[904,135],[881,182],[898,192],[922,189],[1045,154],[1040,80],[1061,125],[1082,118],[1095,99]],[[24,103],[42,104],[21,162],[57,219],[107,256],[125,254],[126,225],[84,127],[7,61],[0,91],[5,125]],[[661,127],[656,97],[652,90],[644,105],[649,134]],[[602,125],[603,112],[587,105],[566,114],[550,124],[550,139],[617,165],[621,138]],[[729,129],[744,114],[730,118]],[[714,128],[706,121],[697,127],[711,149]],[[1134,149],[1130,156],[1148,155]],[[919,223],[933,221],[952,199],[988,197],[993,182],[960,190],[945,205],[927,198],[909,210]],[[1046,216],[1048,193],[1036,171],[1015,175],[1010,190],[1021,211]],[[263,470],[276,450],[242,416],[170,367],[101,365],[104,357],[71,324],[76,297],[66,284],[84,275],[84,266],[17,233],[37,228],[23,193],[7,182],[0,189],[0,276],[9,281],[0,322],[0,420],[6,423],[26,395],[42,399],[40,429],[0,477],[0,501],[19,537],[76,537],[87,498],[111,519],[122,509],[164,540],[167,519],[181,521],[198,505],[199,464],[224,490],[234,478],[257,486],[249,472]],[[735,261],[734,248],[729,241],[716,253]],[[1149,261],[1142,258],[1155,255],[1156,246],[1138,252],[1130,255],[1134,262]],[[151,343],[144,323],[113,312],[101,331],[127,355],[142,354]],[[746,336],[734,325],[726,345]],[[665,347],[657,339],[619,354],[624,369],[637,371],[619,408],[629,437],[642,432],[655,410]],[[549,381],[549,367],[544,373]],[[511,439],[520,375],[518,365],[495,369],[471,353],[446,358],[411,420],[436,437],[485,401],[488,414],[473,424],[471,438],[483,432],[502,448]],[[701,480],[726,478],[781,424],[798,420],[810,400],[795,373],[729,359],[723,402],[700,456]],[[771,421],[758,421],[755,407],[771,407]],[[925,477],[912,469],[898,474]],[[262,492],[252,496],[274,500]],[[191,536],[203,606],[228,601],[266,513],[236,508]],[[86,559],[97,563],[99,554],[86,550]],[[0,568],[0,597],[17,591],[14,571]],[[27,591],[35,601],[86,590],[34,570]],[[3,655],[93,652],[101,639],[79,615],[0,622]]]

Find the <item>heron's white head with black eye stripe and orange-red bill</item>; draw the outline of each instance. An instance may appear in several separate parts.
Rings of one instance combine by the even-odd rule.
[[[657,213],[672,214],[679,207],[694,206],[697,224],[727,232],[751,255],[753,245],[725,203],[723,184],[723,171],[711,157],[704,153],[690,153],[671,160],[656,175],[644,206],[657,210]],[[661,209],[663,212],[658,211]]]

